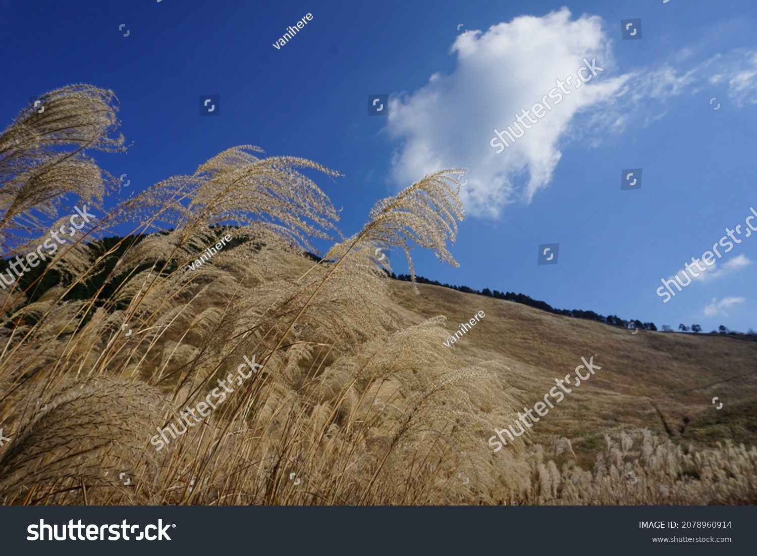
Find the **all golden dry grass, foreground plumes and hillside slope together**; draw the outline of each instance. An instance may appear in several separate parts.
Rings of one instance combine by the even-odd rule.
[[[20,187],[39,173],[40,149],[58,138],[56,148],[73,145],[75,156],[83,156],[82,146],[119,148],[123,141],[110,137],[117,125],[112,93],[74,86],[53,96],[56,110],[49,114],[62,117],[58,127],[32,122],[36,116],[25,111],[0,136],[0,166],[12,162],[0,204],[5,245],[16,245],[11,240],[23,230],[39,234],[30,211],[66,217],[55,195],[99,198],[104,191],[94,178],[76,187],[64,181],[51,189],[44,180]],[[86,110],[103,102],[106,108]],[[86,140],[76,134],[81,130],[88,130]],[[83,230],[91,239],[126,221],[142,222],[137,230],[170,228],[131,245],[107,275],[100,271],[109,254],[95,255],[79,242],[57,254],[51,267],[63,270],[64,280],[34,303],[26,303],[17,283],[0,292],[0,421],[5,436],[11,433],[11,444],[0,451],[3,503],[664,503],[647,490],[635,498],[608,494],[608,480],[610,491],[625,488],[619,470],[629,465],[658,490],[681,486],[681,474],[691,477],[685,492],[669,500],[754,503],[754,485],[743,473],[753,476],[755,458],[746,448],[710,442],[684,453],[645,433],[637,459],[628,448],[618,459],[611,445],[604,467],[588,470],[606,431],[659,432],[662,420],[675,428],[686,414],[684,439],[699,433],[706,444],[711,430],[721,434],[706,423],[696,392],[738,384],[729,405],[753,398],[752,344],[631,337],[507,301],[391,283],[375,248],[403,249],[410,261],[416,243],[456,264],[447,244],[463,216],[451,177],[459,170],[431,174],[379,201],[363,230],[344,239],[328,198],[300,169],[337,173],[252,153],[260,149],[228,149]],[[93,163],[86,164],[91,174]],[[215,226],[229,223],[237,226],[226,229],[236,237],[255,241],[224,248],[212,264],[190,270],[216,242]],[[311,239],[332,233],[324,260],[313,264],[300,255]],[[25,237],[24,248],[39,240]],[[128,280],[121,283],[120,276]],[[99,291],[120,286],[104,300],[65,300],[87,280]],[[479,309],[486,318],[445,347],[450,326],[438,315],[455,328]],[[494,426],[512,422],[522,405],[553,386],[553,376],[597,352],[603,369],[585,389],[531,434],[492,453],[486,439]],[[204,400],[245,355],[263,365],[258,373],[235,383],[223,405],[156,451],[157,428]],[[547,460],[536,442],[553,444],[556,435],[573,445],[559,440]],[[674,464],[661,467],[660,458]],[[718,462],[725,462],[726,475],[716,472]],[[726,479],[733,484],[714,495],[713,481]]]

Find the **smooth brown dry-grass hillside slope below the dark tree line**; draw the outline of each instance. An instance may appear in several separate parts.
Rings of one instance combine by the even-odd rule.
[[[478,311],[486,317],[450,348],[464,355],[500,361],[512,395],[532,407],[554,379],[572,373],[581,357],[602,369],[540,423],[528,442],[571,439],[583,464],[593,464],[605,434],[647,428],[682,445],[712,446],[726,439],[757,445],[757,343],[727,336],[629,330],[591,320],[562,317],[538,309],[408,283],[392,283],[407,324],[432,315],[449,319],[447,328]],[[720,410],[712,398],[723,401]],[[504,425],[505,423],[503,423]],[[482,439],[485,442],[485,439]]]

